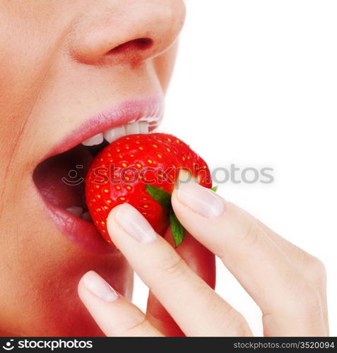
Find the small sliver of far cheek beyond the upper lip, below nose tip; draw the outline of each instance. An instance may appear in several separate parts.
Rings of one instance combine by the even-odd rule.
[[[165,53],[153,59],[155,71],[157,73],[163,92],[167,91],[173,68],[175,67],[175,59],[177,57],[178,43],[176,42]]]

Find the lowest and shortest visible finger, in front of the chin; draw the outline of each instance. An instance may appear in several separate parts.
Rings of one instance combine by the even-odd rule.
[[[94,271],[78,283],[78,295],[103,333],[112,337],[160,337],[146,316]]]

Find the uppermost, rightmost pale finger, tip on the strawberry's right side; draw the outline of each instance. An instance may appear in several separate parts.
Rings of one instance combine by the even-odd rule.
[[[193,181],[179,184],[172,206],[260,306],[267,335],[325,333],[317,290],[247,213]]]

